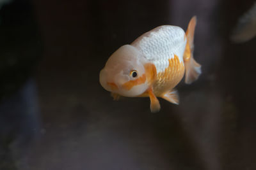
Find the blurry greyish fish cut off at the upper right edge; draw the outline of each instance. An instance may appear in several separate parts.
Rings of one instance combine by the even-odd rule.
[[[245,43],[256,36],[256,3],[237,21],[230,40],[233,43]]]

